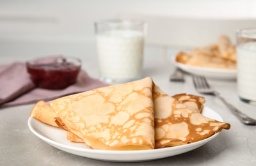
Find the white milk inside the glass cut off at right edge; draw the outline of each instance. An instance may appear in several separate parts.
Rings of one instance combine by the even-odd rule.
[[[237,47],[237,71],[239,96],[256,101],[256,42]]]

